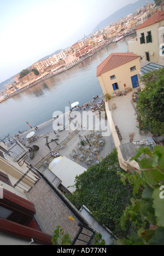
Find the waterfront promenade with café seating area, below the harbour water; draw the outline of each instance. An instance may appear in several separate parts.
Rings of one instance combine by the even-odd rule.
[[[66,158],[71,159],[72,161],[83,166],[84,168],[88,168],[90,165],[95,164],[96,161],[108,155],[114,148],[114,142],[112,136],[110,135],[108,120],[100,120],[99,114],[97,114],[98,112],[92,112],[91,109],[92,104],[98,106],[98,102],[101,102],[102,100],[104,100],[103,95],[99,96],[94,102],[92,100],[90,102],[87,102],[90,105],[89,108],[86,108],[84,104],[84,108],[80,106],[80,109],[78,111],[81,115],[83,115],[84,113],[90,114],[91,119],[92,117],[93,119],[96,119],[95,124],[92,127],[90,126],[91,129],[90,127],[84,127],[83,121],[80,121],[78,123],[77,121],[75,121],[75,119],[72,119],[72,124],[74,124],[75,127],[73,130],[69,130],[67,124],[69,124],[70,121],[68,120],[70,113],[67,112],[64,113],[63,116],[58,117],[56,120],[51,119],[44,124],[40,124],[39,126],[37,126],[39,130],[30,129],[24,133],[21,133],[21,135],[19,135],[19,141],[21,141],[21,143],[23,143],[26,147],[28,147],[29,149],[33,146],[39,147],[39,150],[37,152],[34,152],[33,159],[31,159],[31,152],[27,153],[28,158],[26,159],[26,161],[36,168],[42,168],[42,166],[45,167],[45,165],[49,165],[50,162],[54,159],[54,157],[52,156],[52,152],[58,152],[60,156],[65,156]],[[63,118],[65,119],[66,129],[61,131],[55,130],[55,133],[57,134],[56,135],[53,129],[54,121],[58,123],[58,127],[61,128],[64,125]],[[105,136],[98,137],[98,135],[96,136],[96,134],[98,132],[103,132],[99,129],[99,127],[104,127],[104,122],[106,123],[108,134],[106,133]],[[103,125],[101,125],[101,123]],[[91,130],[94,130],[94,135],[92,134],[92,136],[90,135]],[[31,139],[27,139],[26,136],[30,132],[34,132],[34,136]],[[86,140],[86,138],[88,139]],[[93,142],[94,138],[98,138],[97,143]],[[81,139],[85,141],[85,146],[80,149],[79,143]],[[102,145],[100,146],[100,148],[97,147],[99,141],[104,141],[103,144],[101,143]],[[46,145],[47,142],[49,143],[50,148],[48,147],[48,145]],[[87,148],[88,146],[89,148]],[[87,162],[87,156],[92,156],[93,154],[91,153],[91,150],[94,150],[95,148],[98,148],[98,152],[95,152],[94,159],[92,161]],[[77,156],[75,158],[72,155],[74,150]],[[82,155],[82,153],[86,157],[85,160],[84,158],[80,158],[80,155]]]

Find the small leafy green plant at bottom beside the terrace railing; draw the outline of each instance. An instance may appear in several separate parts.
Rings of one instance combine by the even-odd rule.
[[[57,226],[54,231],[54,236],[52,237],[53,245],[71,245],[72,241],[69,234],[65,234],[61,226]]]

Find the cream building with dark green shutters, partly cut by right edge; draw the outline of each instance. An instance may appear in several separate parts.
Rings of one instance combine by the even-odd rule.
[[[159,30],[160,34],[164,34],[163,26],[164,11],[158,11],[154,16],[136,28],[137,37],[128,42],[128,50],[131,53],[140,55],[143,61],[159,62],[159,42],[161,41]],[[162,43],[164,43],[164,37],[162,38]]]

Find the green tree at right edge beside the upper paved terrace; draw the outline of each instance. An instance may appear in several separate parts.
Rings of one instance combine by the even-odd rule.
[[[143,91],[139,92],[137,100],[138,118],[146,130],[162,135],[164,132],[164,68],[143,75],[141,82],[145,83]]]

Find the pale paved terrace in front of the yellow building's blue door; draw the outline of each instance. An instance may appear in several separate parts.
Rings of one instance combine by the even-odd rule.
[[[121,144],[130,142],[130,138],[133,141],[141,141],[151,136],[151,133],[145,135],[139,132],[138,122],[136,120],[137,114],[132,105],[132,94],[136,89],[128,92],[126,96],[116,96],[109,101],[109,108],[112,110],[113,103],[116,104],[116,109],[112,110],[112,118],[115,126],[118,126],[120,134],[122,136]]]

